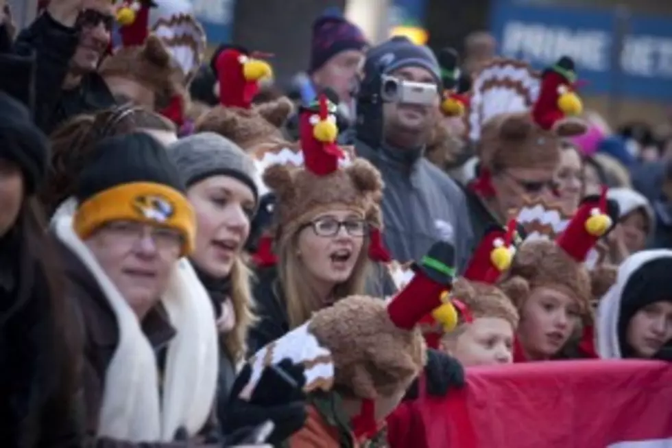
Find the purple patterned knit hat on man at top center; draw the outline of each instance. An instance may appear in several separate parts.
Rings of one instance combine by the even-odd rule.
[[[313,23],[309,73],[346,50],[363,50],[368,45],[357,25],[340,16],[322,16]]]

